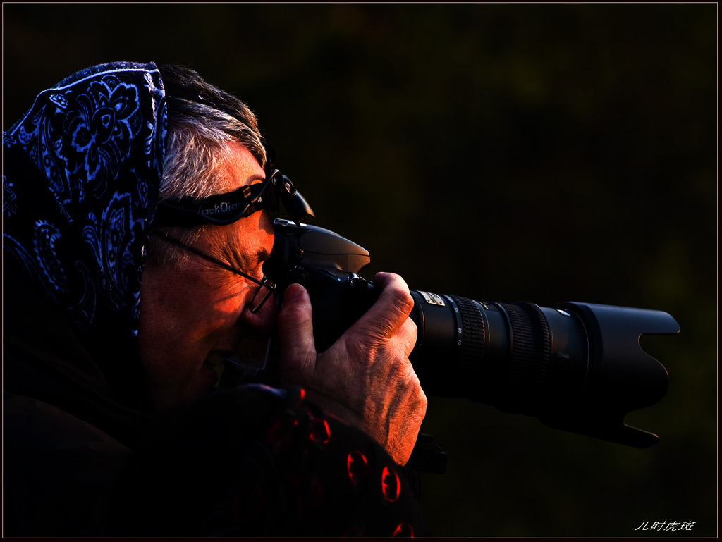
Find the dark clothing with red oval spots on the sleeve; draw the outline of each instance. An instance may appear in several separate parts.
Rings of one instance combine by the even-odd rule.
[[[121,408],[64,317],[5,278],[5,536],[429,534],[401,468],[300,390]]]

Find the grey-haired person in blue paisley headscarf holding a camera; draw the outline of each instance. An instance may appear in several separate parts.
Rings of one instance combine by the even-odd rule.
[[[277,310],[262,270],[269,152],[243,102],[155,64],[80,71],[4,134],[6,536],[427,533],[409,290],[378,274],[318,353],[308,292]],[[275,332],[276,386],[225,385]]]

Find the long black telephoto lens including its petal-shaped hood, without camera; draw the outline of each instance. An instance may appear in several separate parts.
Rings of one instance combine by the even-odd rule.
[[[666,393],[666,370],[639,346],[642,334],[679,331],[666,312],[478,302],[417,290],[412,297],[418,338],[409,359],[427,394],[627,445],[656,442],[624,417]]]

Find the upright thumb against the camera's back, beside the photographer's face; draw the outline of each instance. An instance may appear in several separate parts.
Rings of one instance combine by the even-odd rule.
[[[291,284],[283,294],[283,303],[278,312],[278,333],[282,371],[291,374],[313,373],[316,344],[313,341],[311,300],[300,284]]]

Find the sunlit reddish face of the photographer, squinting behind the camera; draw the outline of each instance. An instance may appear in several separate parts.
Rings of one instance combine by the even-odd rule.
[[[232,144],[232,149],[223,192],[264,180],[264,170],[245,147]],[[193,248],[261,279],[273,240],[268,215],[256,212],[228,226],[207,227]],[[192,252],[178,268],[146,266],[138,338],[152,405],[174,406],[209,393],[218,379],[214,365],[238,354],[244,339],[269,338],[276,306],[271,297],[251,313],[258,288]]]

